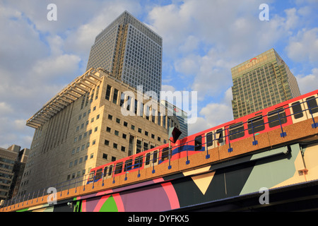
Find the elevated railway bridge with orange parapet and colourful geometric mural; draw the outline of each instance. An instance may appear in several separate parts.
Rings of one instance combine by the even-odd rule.
[[[0,213],[318,210],[315,121],[318,117],[284,126],[284,136],[278,126],[81,186],[78,180],[66,182],[56,193],[46,188],[8,200]]]

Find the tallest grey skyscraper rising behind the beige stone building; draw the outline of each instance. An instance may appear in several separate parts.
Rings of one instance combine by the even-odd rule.
[[[143,92],[161,90],[163,40],[146,25],[124,11],[95,38],[87,71],[102,68]]]

